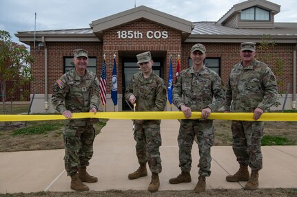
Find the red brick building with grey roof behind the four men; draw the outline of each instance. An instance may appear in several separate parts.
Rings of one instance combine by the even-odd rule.
[[[275,23],[274,16],[278,12],[280,5],[275,3],[248,0],[234,5],[216,22],[191,22],[142,5],[92,21],[87,29],[18,32],[16,36],[30,45],[34,57],[32,74],[36,80],[31,84],[31,97],[33,89],[37,94],[32,112],[53,112],[52,87],[72,68],[72,50],[76,48],[89,51],[88,69],[96,72],[99,78],[105,55],[107,111],[114,110],[110,91],[116,55],[118,105],[115,111],[125,111],[130,108],[123,100],[123,92],[132,74],[138,71],[136,54],[151,51],[154,71],[167,82],[170,56],[175,75],[178,56],[181,57],[181,69],[190,67],[190,48],[195,43],[203,43],[207,49],[205,65],[217,71],[226,82],[229,71],[240,61],[240,43],[247,41],[257,43],[256,58],[266,59],[272,69],[277,68],[274,60],[283,61],[280,64],[283,75],[277,76],[283,83],[280,91],[285,93],[287,84],[291,84],[285,108],[296,108],[297,23]],[[263,35],[269,35],[276,42],[274,48],[260,49]],[[38,47],[33,47],[34,40]],[[284,97],[280,95],[282,105]]]

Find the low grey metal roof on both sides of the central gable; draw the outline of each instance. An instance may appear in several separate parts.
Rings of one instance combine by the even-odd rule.
[[[263,34],[269,34],[278,43],[297,43],[297,23],[275,23],[274,29],[236,29],[216,25],[216,22],[195,22],[194,29],[185,42],[238,43],[254,39],[260,41]],[[16,34],[23,43],[34,39],[34,31],[18,32]],[[84,41],[101,42],[93,33],[92,28],[70,30],[43,30],[36,32],[37,41],[45,37],[45,41]],[[256,39],[256,40],[255,40]]]

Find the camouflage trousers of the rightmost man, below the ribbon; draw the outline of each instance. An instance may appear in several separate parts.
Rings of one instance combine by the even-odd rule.
[[[232,148],[238,163],[245,163],[252,170],[263,167],[261,140],[263,121],[232,121]]]

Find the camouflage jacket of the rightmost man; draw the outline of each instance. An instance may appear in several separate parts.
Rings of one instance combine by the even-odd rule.
[[[226,88],[225,107],[232,112],[254,112],[257,107],[266,111],[278,95],[274,73],[256,59],[248,67],[243,67],[241,62],[235,65]]]

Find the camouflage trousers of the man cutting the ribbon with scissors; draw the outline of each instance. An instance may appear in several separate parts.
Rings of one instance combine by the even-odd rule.
[[[142,124],[134,121],[134,139],[139,164],[148,163],[150,171],[162,172],[159,147],[162,145],[161,120],[145,120]]]

